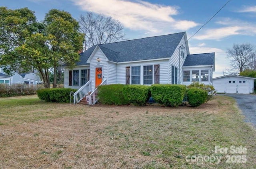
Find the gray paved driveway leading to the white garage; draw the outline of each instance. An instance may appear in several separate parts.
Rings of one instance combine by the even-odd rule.
[[[256,95],[255,94],[219,94],[233,97],[245,116],[244,121],[256,128]]]

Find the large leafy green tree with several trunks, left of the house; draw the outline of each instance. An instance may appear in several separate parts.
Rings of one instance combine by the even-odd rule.
[[[38,70],[44,87],[50,87],[49,69],[66,63],[74,67],[82,49],[83,34],[79,24],[68,12],[50,10],[43,22],[37,22],[28,8],[0,8],[0,65],[8,74],[14,71]]]

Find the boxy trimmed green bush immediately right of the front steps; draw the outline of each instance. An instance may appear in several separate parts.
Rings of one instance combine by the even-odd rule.
[[[112,84],[101,85],[98,87],[98,97],[102,104],[124,105],[129,104],[128,100],[124,99],[124,85]]]

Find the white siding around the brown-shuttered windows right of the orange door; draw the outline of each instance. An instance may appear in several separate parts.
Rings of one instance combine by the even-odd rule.
[[[148,65],[160,65],[159,71],[160,71],[160,84],[168,84],[168,60],[162,60],[162,61],[144,61],[144,62],[136,62],[136,63],[120,63],[117,64],[116,67],[116,83],[117,84],[125,84],[125,79],[126,79],[126,69],[125,67],[134,67],[134,66],[140,66],[140,83],[143,85],[143,66],[148,66]],[[131,80],[131,78],[130,78]],[[153,83],[154,83],[154,74],[153,74]]]

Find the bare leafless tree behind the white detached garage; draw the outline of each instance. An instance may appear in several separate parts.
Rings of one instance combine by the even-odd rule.
[[[230,66],[239,73],[251,67],[252,58],[255,55],[255,47],[250,43],[234,44],[231,49],[227,49],[227,57],[230,59]]]

